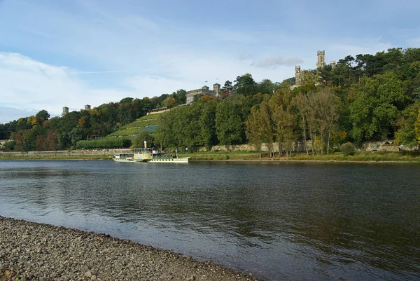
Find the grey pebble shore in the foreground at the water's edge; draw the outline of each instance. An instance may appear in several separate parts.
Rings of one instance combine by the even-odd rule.
[[[0,280],[255,280],[105,234],[0,217]]]

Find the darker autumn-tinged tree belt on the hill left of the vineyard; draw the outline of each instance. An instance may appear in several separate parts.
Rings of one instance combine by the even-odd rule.
[[[3,144],[2,149],[55,151],[76,148],[78,141],[106,137],[152,109],[185,103],[186,91],[177,90],[172,95],[151,99],[125,97],[120,102],[102,104],[91,110],[71,111],[62,117],[50,118],[48,111],[41,110],[34,116],[0,124],[0,139],[12,139]]]

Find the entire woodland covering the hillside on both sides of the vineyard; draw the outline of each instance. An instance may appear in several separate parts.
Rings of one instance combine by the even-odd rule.
[[[335,67],[302,71],[281,83],[251,74],[226,81],[222,97],[197,97],[185,104],[186,91],[151,99],[127,97],[90,111],[49,118],[46,111],[0,124],[0,139],[13,139],[3,150],[70,149],[78,140],[104,137],[158,107],[161,114],[155,142],[166,147],[195,149],[216,144],[262,143],[291,151],[308,140],[320,153],[351,142],[394,139],[417,147],[420,142],[420,48],[391,48],[375,55],[348,55]],[[306,142],[304,142],[306,143]]]

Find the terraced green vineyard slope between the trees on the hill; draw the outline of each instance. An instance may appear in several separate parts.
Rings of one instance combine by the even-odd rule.
[[[143,130],[147,130],[148,132],[155,132],[159,116],[160,114],[143,116],[132,123],[123,125],[118,130],[112,132],[106,137],[132,137],[132,135],[137,135]]]

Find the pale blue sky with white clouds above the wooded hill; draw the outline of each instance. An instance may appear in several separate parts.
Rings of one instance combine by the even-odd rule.
[[[420,48],[420,1],[0,0],[0,123]]]

